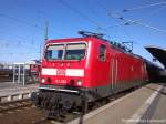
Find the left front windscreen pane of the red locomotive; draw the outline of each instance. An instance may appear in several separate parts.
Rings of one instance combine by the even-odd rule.
[[[48,60],[62,60],[64,51],[64,44],[50,45],[45,52],[45,59]]]

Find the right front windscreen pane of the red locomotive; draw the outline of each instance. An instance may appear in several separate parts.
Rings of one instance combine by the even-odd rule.
[[[85,43],[66,44],[65,60],[82,60],[85,56]]]

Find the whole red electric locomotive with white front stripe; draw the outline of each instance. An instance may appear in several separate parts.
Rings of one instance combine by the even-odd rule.
[[[80,33],[45,43],[39,92],[31,99],[54,115],[80,106],[82,96],[94,102],[147,80],[142,58],[101,34]]]

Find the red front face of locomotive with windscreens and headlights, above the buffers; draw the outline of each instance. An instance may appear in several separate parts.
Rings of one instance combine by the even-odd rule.
[[[86,42],[48,43],[42,61],[41,86],[82,86]]]

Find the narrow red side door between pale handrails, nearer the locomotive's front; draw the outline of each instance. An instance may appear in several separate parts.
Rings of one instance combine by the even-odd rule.
[[[112,84],[111,89],[115,90],[117,87],[117,59],[112,60]]]

